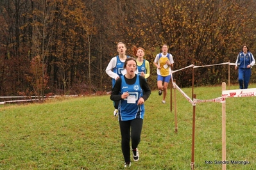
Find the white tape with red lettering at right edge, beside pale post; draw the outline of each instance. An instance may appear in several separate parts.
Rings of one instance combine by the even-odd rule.
[[[232,89],[232,90],[223,90],[222,97],[255,97],[256,88],[253,89]]]

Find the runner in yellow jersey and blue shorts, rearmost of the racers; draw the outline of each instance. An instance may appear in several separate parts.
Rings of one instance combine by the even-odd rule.
[[[164,91],[162,103],[166,103],[166,95],[168,84],[171,79],[171,68],[173,68],[173,56],[168,52],[168,46],[162,46],[162,53],[157,54],[155,57],[154,65],[157,67],[157,88],[158,95],[162,95]]]

